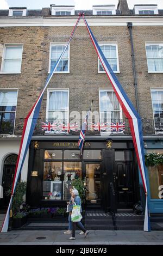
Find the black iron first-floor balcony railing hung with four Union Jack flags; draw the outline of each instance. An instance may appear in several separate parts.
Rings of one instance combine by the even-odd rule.
[[[70,120],[70,123],[67,126],[67,123],[58,123],[54,120],[42,120],[41,118],[37,119],[36,127],[34,130],[34,136],[36,135],[51,135],[51,136],[59,136],[59,135],[79,135],[80,127],[82,127],[81,120],[79,123],[73,123]],[[43,123],[44,126],[43,127]],[[111,123],[113,125],[112,129],[107,128],[107,123],[89,123],[88,130],[86,132],[87,135],[96,136],[96,135],[106,135],[106,136],[116,136],[116,135],[131,135],[130,127],[128,119],[123,120],[111,120],[108,122],[109,125]],[[117,123],[117,127],[116,127]],[[118,126],[123,126],[124,129]],[[22,135],[24,125],[24,119],[3,119],[0,121],[0,135]],[[63,126],[64,125],[64,126]],[[108,126],[109,126],[108,125]],[[47,127],[46,127],[47,126]],[[52,127],[51,127],[52,126]],[[114,129],[115,126],[115,129]],[[105,129],[106,128],[106,129]],[[44,130],[43,130],[44,129]],[[124,130],[124,131],[123,131]],[[162,134],[163,135],[163,123],[160,122],[160,119],[156,120],[155,123],[153,119],[142,119],[142,131],[143,135],[155,135],[155,134]]]

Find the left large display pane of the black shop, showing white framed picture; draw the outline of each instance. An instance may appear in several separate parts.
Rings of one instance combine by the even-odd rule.
[[[61,200],[62,162],[45,162],[43,172],[43,199]]]

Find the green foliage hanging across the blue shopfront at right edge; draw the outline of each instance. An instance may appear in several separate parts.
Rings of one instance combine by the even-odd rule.
[[[145,155],[145,164],[146,166],[158,166],[163,164],[163,154],[159,153],[150,153]]]

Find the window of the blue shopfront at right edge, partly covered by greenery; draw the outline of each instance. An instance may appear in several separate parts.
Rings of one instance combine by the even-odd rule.
[[[163,154],[162,149],[147,150],[147,153]],[[161,164],[156,166],[148,166],[149,185],[151,191],[151,199],[161,199],[159,196],[160,186],[163,186],[163,167]],[[163,198],[162,198],[163,199]]]

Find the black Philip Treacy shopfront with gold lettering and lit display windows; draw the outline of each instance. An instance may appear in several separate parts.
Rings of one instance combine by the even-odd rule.
[[[116,208],[133,208],[140,200],[139,174],[131,141],[86,141],[80,157],[78,141],[32,141],[29,150],[27,203],[63,207],[73,179],[86,186],[86,207],[110,209],[110,182]]]

